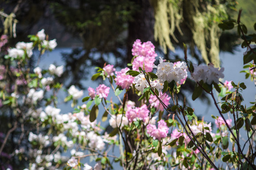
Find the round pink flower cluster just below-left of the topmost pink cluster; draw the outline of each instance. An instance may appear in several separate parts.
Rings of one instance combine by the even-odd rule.
[[[130,85],[133,83],[133,76],[125,75],[127,71],[129,71],[129,68],[123,68],[121,71],[116,71],[116,77],[115,77],[115,84],[122,87],[122,89],[128,89]]]

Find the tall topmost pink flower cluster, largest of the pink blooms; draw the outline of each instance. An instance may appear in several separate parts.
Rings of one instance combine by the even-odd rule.
[[[133,43],[133,56],[137,56],[133,60],[133,70],[139,71],[139,67],[143,68],[143,63],[145,65],[145,71],[151,72],[153,70],[153,65],[155,62],[155,57],[157,54],[155,53],[155,46],[152,42],[141,42],[141,40],[137,39]]]

